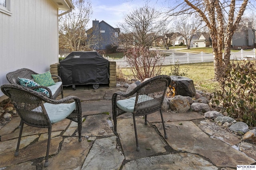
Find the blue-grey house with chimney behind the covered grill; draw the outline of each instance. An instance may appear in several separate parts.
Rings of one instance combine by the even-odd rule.
[[[92,27],[86,31],[87,41],[93,50],[109,50],[118,46],[119,28],[114,28],[105,21],[92,21]]]

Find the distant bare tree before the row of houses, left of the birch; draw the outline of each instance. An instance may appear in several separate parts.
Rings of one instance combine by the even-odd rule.
[[[202,21],[200,21],[198,17],[194,17],[193,20],[191,20],[191,18],[180,20],[176,22],[175,25],[176,31],[184,37],[187,49],[190,49],[190,42],[193,35],[203,27]]]

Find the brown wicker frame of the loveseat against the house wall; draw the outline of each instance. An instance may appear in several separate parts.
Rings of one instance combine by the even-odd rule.
[[[28,68],[21,68],[21,69],[18,69],[16,71],[13,71],[13,72],[8,72],[6,74],[6,79],[8,80],[8,82],[10,84],[20,85],[19,77],[33,80],[33,77],[31,76],[31,74],[38,74],[38,73],[36,73],[33,70],[30,70]],[[62,82],[60,76],[52,75],[52,77],[56,77],[56,78],[58,78],[59,82]],[[62,87],[62,85],[56,90],[56,92],[54,94],[52,94],[52,91],[50,90],[50,88],[46,87],[46,86],[36,86],[36,87],[29,87],[29,88],[30,89],[44,88],[49,92],[49,98],[51,98],[51,99],[56,99],[60,93],[61,93],[61,98],[63,98],[63,87]]]

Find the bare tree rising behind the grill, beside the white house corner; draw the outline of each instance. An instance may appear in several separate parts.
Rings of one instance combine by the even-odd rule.
[[[59,19],[59,47],[70,51],[88,48],[86,26],[92,15],[90,0],[72,0],[75,9]]]

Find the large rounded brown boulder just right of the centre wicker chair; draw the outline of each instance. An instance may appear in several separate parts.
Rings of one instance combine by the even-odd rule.
[[[170,109],[182,113],[190,109],[190,104],[186,97],[178,95],[170,100]]]

